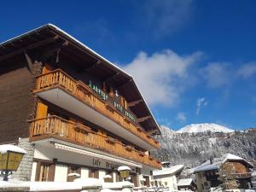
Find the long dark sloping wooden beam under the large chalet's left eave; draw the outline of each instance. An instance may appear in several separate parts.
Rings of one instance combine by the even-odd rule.
[[[59,36],[55,36],[54,38],[47,38],[47,39],[45,39],[45,40],[43,40],[43,41],[40,41],[40,42],[38,42],[38,43],[30,44],[30,45],[26,46],[25,48],[21,48],[21,49],[15,50],[15,51],[13,51],[13,52],[11,52],[11,53],[9,53],[9,54],[0,56],[0,61],[3,61],[3,60],[5,60],[5,59],[8,59],[9,57],[14,56],[14,55],[21,54],[21,53],[24,52],[24,50],[35,49],[35,48],[37,48],[37,47],[39,47],[39,46],[42,46],[42,45],[44,45],[44,44],[49,44],[49,43],[51,43],[51,42],[57,40],[58,38],[59,38]]]

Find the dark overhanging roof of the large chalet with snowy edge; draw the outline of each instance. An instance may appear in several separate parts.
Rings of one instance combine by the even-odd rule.
[[[86,67],[94,66],[94,70],[97,70],[97,75],[101,75],[102,78],[114,76],[113,83],[119,86],[119,90],[121,94],[125,96],[127,102],[140,101],[137,105],[130,108],[131,112],[134,113],[137,118],[143,119],[147,117],[142,122],[139,122],[139,124],[143,126],[145,131],[155,131],[155,133],[160,134],[159,125],[154,119],[154,115],[148,108],[142,93],[138,90],[137,84],[131,75],[125,73],[125,71],[114,65],[111,61],[108,61],[102,55],[99,55],[96,51],[90,49],[57,26],[52,24],[40,26],[30,32],[26,32],[1,43],[0,63],[12,55],[23,54],[24,50],[38,49],[40,46],[43,47],[45,44],[52,44],[56,41],[59,41],[59,43],[60,41],[67,41],[68,46],[61,48],[61,51],[63,49],[63,52],[66,51],[70,55],[73,54],[71,55],[73,58],[79,57],[79,59],[83,59],[84,62],[82,65]],[[89,57],[90,60],[88,59]],[[96,63],[100,64],[96,65]]]

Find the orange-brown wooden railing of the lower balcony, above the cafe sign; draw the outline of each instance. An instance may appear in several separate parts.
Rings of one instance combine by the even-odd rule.
[[[34,141],[45,137],[55,137],[70,143],[95,148],[154,168],[161,167],[158,160],[154,160],[142,151],[137,151],[131,146],[124,145],[101,132],[91,131],[88,126],[73,123],[55,115],[43,119],[34,119],[31,122],[31,140]]]

